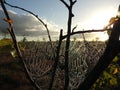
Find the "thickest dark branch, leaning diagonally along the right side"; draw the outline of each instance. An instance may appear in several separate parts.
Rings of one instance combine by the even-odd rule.
[[[100,57],[99,62],[79,85],[77,90],[89,90],[100,74],[108,67],[111,61],[120,53],[120,18],[113,25],[111,35],[107,42],[106,49]]]

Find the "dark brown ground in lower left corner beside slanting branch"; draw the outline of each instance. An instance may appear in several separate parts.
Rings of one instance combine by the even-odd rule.
[[[0,51],[0,90],[34,90],[20,63],[7,51]]]

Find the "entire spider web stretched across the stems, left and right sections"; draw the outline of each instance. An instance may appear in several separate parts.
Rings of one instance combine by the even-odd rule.
[[[56,48],[57,42],[53,43]],[[104,52],[105,43],[100,41],[71,41],[69,50],[69,89],[76,89],[84,81],[86,75],[94,68]],[[60,61],[57,67],[53,89],[63,89],[64,86],[64,52],[65,42],[60,49]],[[54,64],[55,53],[48,42],[25,42],[25,59],[28,70],[40,88],[49,87],[51,71]]]

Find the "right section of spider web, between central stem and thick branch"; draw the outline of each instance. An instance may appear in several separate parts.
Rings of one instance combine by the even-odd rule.
[[[77,89],[89,73],[97,64],[103,54],[105,43],[100,41],[73,42],[70,46],[69,63],[69,88]]]

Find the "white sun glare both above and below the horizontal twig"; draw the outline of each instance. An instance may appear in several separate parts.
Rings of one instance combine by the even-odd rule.
[[[88,30],[103,29],[108,24],[110,18],[115,17],[115,15],[116,10],[114,10],[113,8],[97,11],[92,17],[90,17],[90,19],[84,22],[84,26]],[[98,36],[99,40],[101,41],[105,41],[108,39],[108,35],[106,33],[96,34],[95,36]]]

